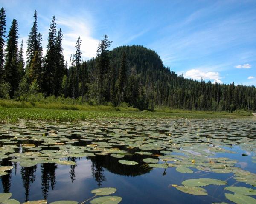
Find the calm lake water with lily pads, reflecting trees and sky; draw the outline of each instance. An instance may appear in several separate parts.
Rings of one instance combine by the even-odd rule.
[[[41,138],[41,139],[40,139]],[[169,203],[232,203],[225,198],[224,187],[244,186],[256,189],[254,184],[238,182],[234,171],[256,173],[256,121],[253,119],[171,119],[171,120],[119,120],[105,122],[19,122],[15,125],[0,125],[0,148],[9,148],[15,153],[56,150],[59,146],[79,147],[80,152],[102,153],[88,157],[62,157],[61,160],[76,162],[76,165],[55,163],[21,167],[20,162],[1,159],[1,166],[13,166],[7,175],[1,176],[0,193],[12,193],[18,201],[47,199],[82,202],[93,196],[91,190],[99,187],[114,187],[113,196],[122,197],[122,204],[169,204]],[[81,140],[83,139],[83,140]],[[18,141],[17,143],[15,143]],[[42,144],[43,143],[43,144]],[[55,144],[54,144],[55,143]],[[65,143],[65,144],[64,144]],[[29,150],[25,144],[42,146],[41,150]],[[94,145],[90,145],[94,144]],[[7,145],[7,146],[6,146]],[[13,148],[8,145],[16,145]],[[55,146],[57,145],[57,146]],[[89,145],[89,146],[87,146]],[[155,148],[152,149],[155,145]],[[88,149],[83,149],[88,147]],[[144,148],[140,148],[144,147]],[[81,149],[82,148],[82,149]],[[125,150],[122,160],[136,161],[134,166],[120,164],[118,158],[110,156],[113,148]],[[161,153],[160,151],[168,151]],[[64,150],[63,150],[64,151]],[[140,155],[135,152],[150,152]],[[9,155],[11,152],[4,152]],[[142,160],[177,155],[168,164],[190,168],[193,173],[177,172],[175,167],[151,168]],[[185,157],[186,161],[181,161]],[[214,165],[222,164],[218,159],[233,161],[226,165],[230,173],[215,173]],[[170,157],[171,158],[171,157]],[[33,159],[33,158],[31,158]],[[202,161],[201,161],[202,159]],[[195,160],[192,163],[191,160]],[[234,161],[236,160],[236,161]],[[209,161],[209,162],[208,162]],[[214,159],[212,159],[214,161]],[[210,163],[208,170],[198,170],[200,163]],[[213,163],[213,164],[212,164]],[[208,164],[207,164],[208,165]],[[172,187],[191,178],[215,178],[227,181],[227,185],[203,187],[208,195],[198,196],[183,193]],[[250,179],[255,182],[256,177]],[[112,196],[111,195],[111,196]],[[256,198],[256,196],[251,196]],[[89,203],[89,201],[87,202]]]

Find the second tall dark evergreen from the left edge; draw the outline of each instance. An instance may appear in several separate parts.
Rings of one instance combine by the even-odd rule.
[[[6,45],[6,60],[4,66],[5,80],[11,85],[10,97],[14,95],[18,87],[18,23],[17,20],[12,20],[12,26],[8,34]]]

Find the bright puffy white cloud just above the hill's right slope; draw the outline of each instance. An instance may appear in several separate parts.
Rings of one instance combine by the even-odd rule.
[[[189,71],[186,71],[184,77],[200,80],[201,78],[203,79],[210,79],[210,80],[219,80],[220,74],[218,72],[204,72],[200,71],[198,69],[191,69]]]

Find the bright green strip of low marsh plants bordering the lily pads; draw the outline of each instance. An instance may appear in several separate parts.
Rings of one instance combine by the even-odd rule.
[[[172,118],[238,118],[232,114],[204,113],[164,113],[149,111],[77,111],[40,108],[3,108],[0,107],[0,122],[16,122],[19,119],[44,121],[87,121],[90,119],[172,119]],[[250,117],[249,117],[250,118]]]

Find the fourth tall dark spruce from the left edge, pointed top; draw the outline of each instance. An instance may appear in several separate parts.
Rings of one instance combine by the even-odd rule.
[[[49,28],[48,45],[44,65],[44,92],[47,96],[54,94],[54,73],[55,73],[55,44],[56,44],[56,18],[52,17]]]

